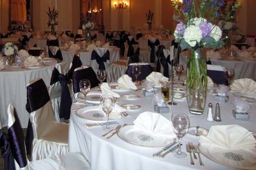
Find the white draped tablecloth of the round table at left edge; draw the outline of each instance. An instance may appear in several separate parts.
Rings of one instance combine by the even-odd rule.
[[[28,125],[29,113],[25,105],[27,103],[27,84],[30,80],[43,78],[46,86],[49,86],[51,73],[57,61],[45,62],[45,65],[37,69],[24,67],[12,67],[11,71],[0,71],[0,128],[7,126],[7,107],[11,103],[17,111],[20,124],[23,128]]]

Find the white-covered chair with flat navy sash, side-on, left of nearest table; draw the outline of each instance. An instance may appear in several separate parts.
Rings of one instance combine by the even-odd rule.
[[[67,153],[69,126],[54,121],[53,107],[43,79],[28,83],[26,109],[30,113],[26,146],[32,160]]]

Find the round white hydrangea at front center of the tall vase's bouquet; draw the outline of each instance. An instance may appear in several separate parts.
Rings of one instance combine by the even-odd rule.
[[[183,38],[191,47],[194,47],[197,42],[201,41],[202,31],[198,26],[187,26]]]

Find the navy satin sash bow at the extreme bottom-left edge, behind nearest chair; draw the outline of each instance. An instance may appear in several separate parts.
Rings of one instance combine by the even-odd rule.
[[[9,144],[7,135],[4,132],[0,132],[0,150],[1,155],[4,158],[4,170],[15,170],[14,157]]]

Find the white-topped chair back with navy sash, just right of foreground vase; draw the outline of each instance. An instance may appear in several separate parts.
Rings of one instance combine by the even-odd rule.
[[[218,65],[207,65],[207,76],[210,77],[215,84],[224,84],[227,86],[227,78],[225,68]]]

